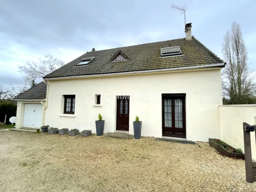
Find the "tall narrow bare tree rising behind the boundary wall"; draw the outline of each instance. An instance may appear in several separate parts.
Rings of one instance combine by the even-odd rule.
[[[256,85],[253,81],[254,71],[249,67],[241,28],[235,21],[224,36],[222,54],[227,62],[222,74],[223,97],[230,104],[246,104],[250,95],[255,93]]]

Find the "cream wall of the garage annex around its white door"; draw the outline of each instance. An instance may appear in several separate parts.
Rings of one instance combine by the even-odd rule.
[[[17,112],[16,112],[16,125],[15,128],[19,129],[20,127],[23,126],[23,116],[24,116],[24,106],[25,103],[41,103],[41,101],[22,101],[18,100],[17,102]],[[43,101],[43,104],[45,101]]]

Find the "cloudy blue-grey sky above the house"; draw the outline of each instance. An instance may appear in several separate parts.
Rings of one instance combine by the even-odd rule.
[[[225,32],[241,25],[249,62],[256,67],[254,0],[0,0],[0,84],[20,80],[18,65],[50,53],[68,63],[96,50],[185,37],[187,6],[192,35],[221,55]]]

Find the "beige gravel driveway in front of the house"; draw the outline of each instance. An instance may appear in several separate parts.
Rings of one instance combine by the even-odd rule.
[[[0,191],[256,191],[243,160],[200,146],[0,130]]]

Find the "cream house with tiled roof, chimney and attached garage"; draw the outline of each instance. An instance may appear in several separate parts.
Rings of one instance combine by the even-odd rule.
[[[194,141],[220,138],[221,73],[225,66],[194,36],[86,52],[18,95],[16,127],[47,125]]]

